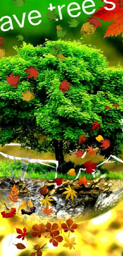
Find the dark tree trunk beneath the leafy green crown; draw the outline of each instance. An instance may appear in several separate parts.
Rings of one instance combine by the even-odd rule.
[[[64,163],[64,156],[63,156],[63,141],[57,141],[53,140],[53,146],[55,148],[55,155],[56,155],[56,160],[59,162],[58,166],[58,172],[62,172],[62,164]]]

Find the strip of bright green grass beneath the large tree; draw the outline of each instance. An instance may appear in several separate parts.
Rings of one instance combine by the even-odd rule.
[[[11,176],[11,168],[13,170],[14,176],[15,177],[20,177],[21,176],[21,162],[16,161],[0,161],[0,177],[10,177]],[[55,167],[54,164],[52,166]],[[33,170],[32,170],[33,168]],[[25,178],[31,178],[31,179],[49,179],[49,180],[54,180],[55,179],[55,171],[52,170],[50,166],[45,166],[41,164],[29,164],[27,168],[27,172],[25,174]],[[67,170],[68,171],[68,170]],[[47,174],[46,174],[47,173]],[[19,174],[19,175],[18,175]],[[78,174],[78,172],[77,172]],[[87,174],[85,172],[81,172],[79,177],[83,177],[85,175],[87,180],[93,179],[92,174]],[[102,175],[102,174],[101,174]],[[58,178],[65,178],[69,180],[74,180],[76,176],[70,176],[68,174],[60,174],[57,172]],[[98,178],[99,175],[96,175],[95,178]],[[116,172],[110,172],[106,173],[106,178],[109,179],[123,179],[123,173],[116,173]]]

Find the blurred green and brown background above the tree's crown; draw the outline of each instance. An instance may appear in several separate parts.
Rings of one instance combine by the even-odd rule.
[[[72,0],[26,0],[25,4],[20,7],[15,7],[15,3],[12,2],[12,0],[4,0],[1,3],[1,14],[0,18],[3,16],[10,16],[12,18],[13,22],[13,30],[9,31],[1,31],[0,37],[3,37],[3,43],[2,46],[5,49],[5,56],[15,55],[16,51],[13,49],[13,46],[21,46],[22,42],[17,41],[18,38],[16,38],[17,35],[23,35],[24,41],[27,43],[32,43],[34,46],[37,44],[43,44],[45,41],[45,38],[49,40],[57,40],[57,33],[56,33],[56,26],[61,25],[63,27],[63,30],[67,30],[67,37],[66,40],[73,40],[73,39],[80,39],[82,37],[82,41],[84,43],[88,44],[91,43],[92,46],[96,46],[98,49],[101,49],[105,56],[107,56],[107,59],[109,61],[110,66],[117,65],[118,62],[123,64],[123,42],[121,35],[115,37],[109,37],[104,38],[105,31],[107,30],[108,25],[110,22],[103,22],[102,27],[98,27],[93,35],[88,35],[85,37],[83,34],[81,35],[80,30],[82,24],[87,22],[87,17],[89,15],[86,15],[82,10],[82,2],[83,0],[77,0],[76,2],[81,7],[81,15],[78,16],[78,20],[80,21],[80,24],[78,27],[69,27],[68,21],[71,21],[71,17],[67,13],[67,6],[73,2]],[[101,0],[94,0],[96,5],[96,10],[99,9],[99,7],[103,6],[104,3]],[[58,14],[58,8],[57,5],[63,5],[66,6],[62,9],[62,15],[63,20],[56,21],[56,22],[50,22],[47,17],[46,13],[49,7],[49,4],[52,3],[52,6],[56,6],[56,13]],[[91,3],[86,3],[86,5],[90,5]],[[71,8],[75,8],[76,6],[71,6]],[[92,7],[88,8],[88,11],[92,11]],[[33,26],[28,21],[28,14],[32,10],[38,10],[42,18],[38,18],[35,20],[32,20],[34,22],[38,22],[39,19],[42,19],[41,24],[38,26]],[[26,12],[25,17],[25,23],[24,27],[20,28],[19,25],[16,23],[15,19],[13,18],[13,14],[16,15],[20,23],[22,22],[22,16],[23,13]],[[77,14],[78,11],[72,11],[72,14]],[[32,14],[31,16],[37,16],[37,14]],[[8,21],[8,19],[4,19],[2,22],[0,22],[0,25],[2,25],[4,22]],[[7,24],[4,28],[8,28],[9,25]]]

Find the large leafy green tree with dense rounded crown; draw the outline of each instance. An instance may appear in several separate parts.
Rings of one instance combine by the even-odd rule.
[[[61,44],[65,60],[50,54],[56,44]],[[48,41],[37,47],[23,43],[14,47],[17,55],[0,60],[0,143],[14,140],[22,147],[29,146],[41,152],[55,152],[59,165],[70,150],[99,146],[95,137],[99,134],[110,140],[106,150],[99,154],[108,157],[120,155],[123,133],[123,69],[108,67],[106,57],[100,50],[79,41]],[[27,79],[27,67],[38,70],[38,78]],[[17,87],[7,83],[11,72],[20,75]],[[60,83],[68,80],[70,91],[63,94]],[[22,92],[34,92],[31,101],[21,99]],[[119,108],[112,107],[117,103]],[[77,105],[79,104],[79,105]],[[105,109],[105,105],[111,109]],[[92,122],[101,124],[99,131],[91,130]],[[78,144],[80,135],[86,135],[84,144]],[[45,135],[40,141],[40,135]]]

